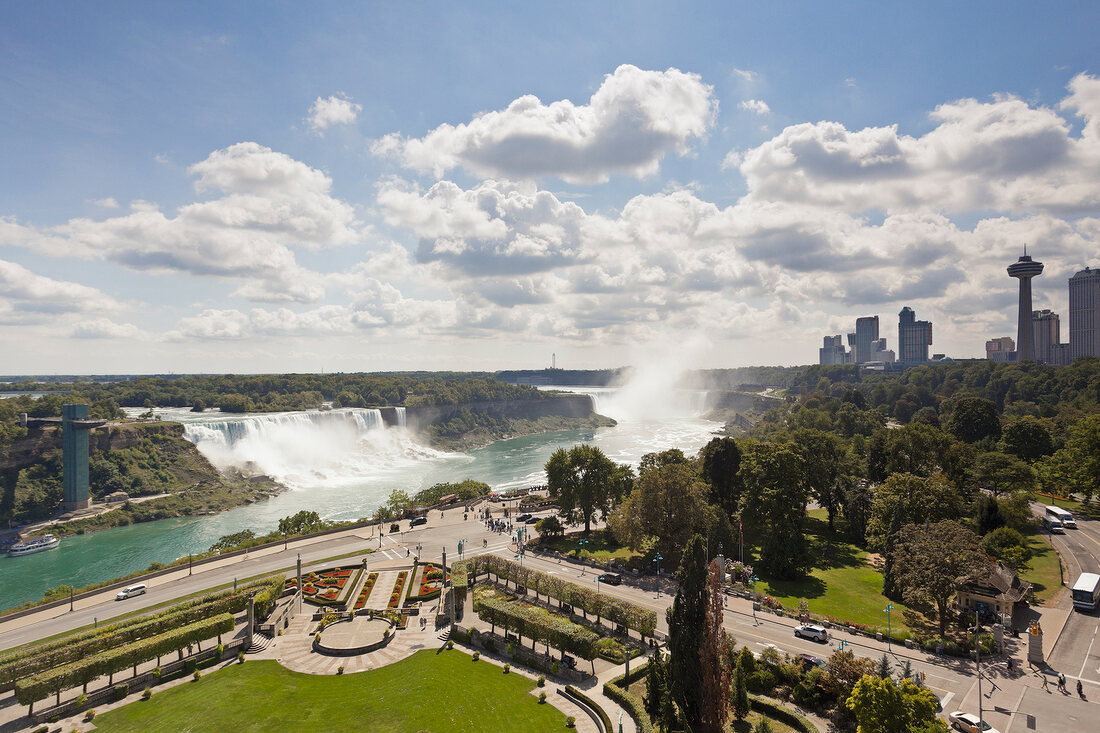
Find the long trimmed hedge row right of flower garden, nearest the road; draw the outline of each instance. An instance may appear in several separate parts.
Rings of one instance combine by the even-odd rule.
[[[470,560],[463,560],[463,562],[465,564],[463,570],[473,575],[475,579],[482,572],[492,572],[497,578],[510,580],[535,591],[536,595],[541,593],[549,598],[556,598],[561,603],[581,609],[597,619],[607,619],[613,623],[623,624],[642,636],[652,636],[657,628],[656,611],[630,601],[597,593],[591,588],[578,586],[519,562],[513,562],[495,555],[479,555]]]

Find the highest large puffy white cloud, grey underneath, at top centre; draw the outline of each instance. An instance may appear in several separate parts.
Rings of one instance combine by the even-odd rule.
[[[386,135],[372,152],[436,177],[459,166],[485,178],[558,176],[578,184],[603,183],[616,173],[645,177],[657,173],[666,154],[685,154],[713,125],[713,91],[695,74],[623,65],[587,105],[543,105],[526,95],[424,138]]]

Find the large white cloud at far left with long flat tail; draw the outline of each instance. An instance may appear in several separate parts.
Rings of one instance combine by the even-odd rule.
[[[185,205],[175,217],[136,200],[125,216],[46,230],[0,219],[0,241],[139,271],[233,278],[235,294],[254,300],[310,303],[323,295],[321,278],[298,265],[294,249],[351,244],[362,234],[327,175],[268,147],[238,143],[188,171],[198,176],[197,193],[218,196]]]

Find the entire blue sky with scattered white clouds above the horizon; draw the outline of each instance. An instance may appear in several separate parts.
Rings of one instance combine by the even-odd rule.
[[[0,374],[1065,341],[1100,4],[901,4],[2,3]]]

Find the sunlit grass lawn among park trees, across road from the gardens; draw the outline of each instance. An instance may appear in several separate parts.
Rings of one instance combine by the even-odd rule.
[[[799,601],[805,600],[810,603],[811,613],[881,626],[883,632],[887,614],[882,610],[892,603],[894,611],[890,621],[894,636],[898,636],[899,630],[906,628],[903,617],[906,606],[882,595],[882,573],[867,562],[867,553],[844,541],[839,534],[831,539],[824,510],[813,510],[807,514],[806,536],[810,538],[814,568],[810,575],[795,580],[763,578],[757,583],[757,592],[771,595],[784,609],[796,611]]]

